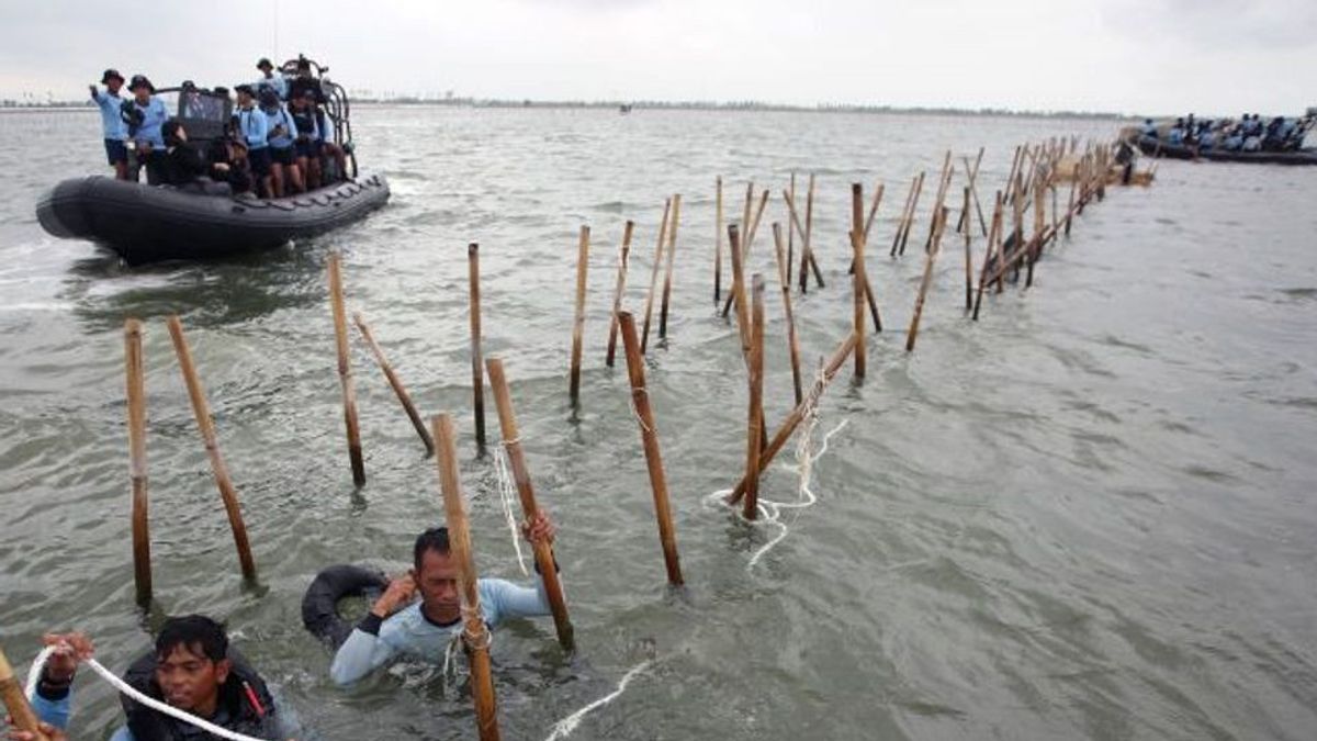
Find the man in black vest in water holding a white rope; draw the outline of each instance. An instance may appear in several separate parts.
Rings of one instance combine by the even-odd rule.
[[[94,647],[82,633],[50,634],[43,641],[55,653],[41,672],[32,707],[45,724],[42,732],[51,741],[65,741],[78,662],[91,658]],[[155,649],[128,667],[124,682],[151,699],[255,738],[282,741],[298,730],[261,676],[229,647],[224,626],[200,614],[166,620]],[[211,738],[134,700],[125,697],[122,703],[126,723],[109,741]],[[36,741],[26,732],[11,732],[9,738]]]

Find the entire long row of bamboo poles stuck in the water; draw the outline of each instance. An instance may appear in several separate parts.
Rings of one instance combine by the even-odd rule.
[[[1069,236],[1073,218],[1083,214],[1085,206],[1094,199],[1105,198],[1106,185],[1112,181],[1110,170],[1113,165],[1113,150],[1110,145],[1088,142],[1083,152],[1079,150],[1077,138],[1052,138],[1043,142],[1027,144],[1015,148],[1011,161],[1010,174],[1002,187],[993,194],[990,219],[985,218],[984,202],[979,193],[980,166],[984,150],[971,160],[968,156],[960,158],[959,173],[963,179],[960,187],[960,204],[952,233],[964,240],[964,311],[977,320],[982,306],[982,295],[988,289],[1001,293],[1006,282],[1018,282],[1021,274],[1025,277],[1025,286],[1033,286],[1038,262],[1044,256],[1048,245],[1055,244],[1059,236]],[[913,352],[919,336],[921,320],[926,306],[926,299],[936,277],[935,262],[942,253],[944,239],[948,236],[947,227],[951,223],[952,183],[957,174],[957,167],[952,162],[952,153],[948,150],[943,158],[942,169],[936,179],[936,190],[932,195],[932,208],[928,216],[928,233],[925,239],[925,265],[918,283],[910,323],[906,330],[905,347]],[[1151,173],[1147,174],[1151,179]],[[906,251],[911,229],[915,224],[918,204],[923,193],[926,173],[921,171],[911,178],[910,190],[903,199],[903,207],[894,219],[894,233],[888,256],[900,260]],[[1058,190],[1068,183],[1069,193],[1064,211],[1059,208]],[[795,323],[795,312],[792,298],[793,286],[801,294],[806,294],[813,282],[817,289],[823,289],[823,272],[815,251],[814,223],[818,206],[817,178],[809,175],[805,189],[803,216],[798,208],[797,178],[792,174],[789,185],[781,191],[781,200],[785,206],[785,225],[772,222],[768,229],[773,240],[773,258],[776,264],[776,280],[781,289],[781,305],[785,322],[785,335],[788,343],[788,356],[792,372],[792,392],[794,403],[786,417],[778,423],[772,435],[768,434],[768,423],[764,418],[764,343],[768,339],[766,320],[766,280],[760,273],[747,276],[747,261],[749,252],[760,232],[760,224],[768,203],[770,190],[763,189],[756,198],[756,189],[749,183],[745,190],[744,207],[739,223],[724,224],[724,193],[722,178],[715,179],[715,219],[714,219],[714,305],[722,316],[731,316],[736,324],[741,357],[745,364],[747,382],[747,423],[745,423],[745,461],[744,472],[732,489],[727,501],[731,505],[740,505],[741,514],[747,519],[755,519],[759,514],[757,497],[760,476],[781,452],[793,434],[806,418],[809,405],[817,402],[826,385],[842,370],[848,360],[853,359],[853,376],[863,378],[868,365],[868,336],[872,331],[884,330],[881,314],[878,311],[878,295],[873,290],[871,280],[869,258],[867,254],[871,232],[876,224],[877,214],[884,196],[884,186],[878,183],[872,194],[872,199],[865,208],[864,190],[860,183],[851,186],[851,227],[848,229],[849,243],[849,269],[851,276],[851,303],[852,327],[836,344],[836,349],[822,364],[820,374],[814,384],[805,389],[799,359],[799,338]],[[1051,203],[1051,219],[1047,219],[1047,204]],[[668,583],[678,587],[684,583],[681,564],[677,551],[676,529],[673,526],[672,504],[668,493],[666,476],[664,472],[662,456],[660,451],[658,429],[656,425],[656,411],[647,392],[644,355],[649,349],[649,335],[655,305],[658,305],[657,336],[664,339],[669,332],[670,303],[676,253],[678,245],[678,231],[681,227],[681,195],[672,195],[664,203],[662,219],[655,244],[655,257],[651,264],[648,291],[644,299],[644,310],[640,320],[627,307],[626,286],[630,266],[635,223],[628,220],[623,225],[622,241],[618,251],[618,266],[614,281],[612,299],[608,311],[608,336],[605,365],[612,367],[616,356],[618,336],[622,338],[623,352],[627,363],[627,377],[630,382],[631,406],[640,429],[641,448],[645,455],[645,464],[649,475],[651,492],[655,505],[655,517],[658,530],[658,541],[662,551],[664,566]],[[1031,229],[1026,229],[1025,219],[1033,210]],[[977,229],[976,229],[977,227]],[[785,240],[784,240],[785,232]],[[986,240],[979,266],[975,266],[972,241],[975,232]],[[1027,232],[1027,233],[1026,233]],[[726,235],[726,243],[724,243]],[[797,241],[799,256],[797,258]],[[785,243],[785,244],[784,244]],[[731,266],[731,283],[724,291],[723,286],[723,252],[727,251]],[[583,359],[583,338],[586,328],[586,295],[587,295],[587,265],[590,252],[590,227],[583,225],[579,231],[577,268],[576,268],[576,295],[574,315],[572,323],[572,349],[569,359],[568,393],[574,403],[581,394],[581,369]],[[512,397],[502,360],[497,357],[485,359],[481,336],[481,281],[479,281],[479,247],[471,244],[468,248],[469,286],[470,286],[470,348],[471,348],[471,381],[473,381],[473,410],[474,434],[477,444],[483,451],[486,446],[485,430],[485,376],[487,372],[489,385],[494,394],[495,406],[499,415],[502,444],[508,455],[523,516],[533,518],[539,512],[535,490],[531,484],[529,468],[522,451],[520,432],[518,431],[516,414],[512,406]],[[660,287],[658,277],[662,273]],[[362,454],[361,429],[357,418],[357,397],[350,367],[348,311],[344,294],[342,273],[340,257],[331,256],[328,266],[328,283],[331,295],[331,315],[335,327],[335,351],[337,360],[337,374],[342,393],[344,425],[346,430],[348,458],[352,477],[356,485],[366,481],[365,459]],[[748,287],[747,287],[748,286]],[[724,295],[726,294],[726,295]],[[390,388],[398,397],[407,418],[415,427],[427,452],[437,452],[440,490],[443,493],[444,509],[448,518],[450,542],[457,563],[461,566],[461,592],[464,597],[464,638],[471,657],[471,678],[474,690],[477,725],[482,740],[499,737],[497,708],[494,699],[494,684],[489,659],[489,629],[479,618],[479,604],[477,572],[473,558],[473,546],[468,527],[464,494],[458,475],[456,454],[456,431],[450,413],[441,413],[431,418],[427,426],[424,417],[416,409],[415,402],[399,378],[394,367],[389,363],[383,349],[366,324],[360,312],[354,312],[353,322],[357,326],[362,341],[369,348],[375,363]],[[639,324],[639,326],[637,326]],[[257,578],[255,562],[252,558],[252,548],[248,542],[246,526],[242,521],[242,512],[238,505],[237,490],[229,476],[227,464],[220,452],[213,419],[209,413],[207,397],[203,390],[191,349],[183,334],[182,322],[171,316],[167,322],[170,338],[178,356],[179,368],[187,386],[198,430],[211,463],[211,469],[220,490],[221,501],[229,518],[233,531],[234,545],[238,552],[238,562],[246,580]],[[136,319],[129,319],[124,327],[125,369],[126,369],[126,398],[128,398],[128,431],[129,431],[129,477],[132,483],[132,543],[133,543],[133,574],[136,593],[140,604],[146,605],[151,600],[151,556],[150,534],[148,516],[148,465],[146,465],[146,393],[142,357],[142,324]],[[549,596],[554,628],[560,643],[565,650],[574,649],[572,622],[568,616],[566,603],[558,583],[557,571],[553,564],[553,555],[548,545],[539,543],[535,548],[535,559],[539,566],[540,578],[544,580],[545,591]],[[0,653],[0,695],[13,716],[17,726],[22,730],[37,732],[36,719],[26,705],[21,688],[16,690],[16,680],[8,662]]]

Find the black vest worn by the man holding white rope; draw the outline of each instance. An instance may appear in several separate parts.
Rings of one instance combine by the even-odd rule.
[[[215,717],[207,720],[244,736],[279,741],[286,738],[281,733],[279,721],[275,717],[274,697],[270,696],[270,690],[265,686],[265,680],[261,679],[261,675],[252,668],[252,665],[236,649],[229,649],[228,658],[230,665],[229,675],[224,680],[224,684],[220,686],[220,699]],[[159,683],[155,682],[155,651],[150,651],[133,662],[128,667],[128,671],[124,672],[124,682],[144,695],[155,697],[157,700],[162,699],[163,692]],[[249,697],[248,688],[252,690],[252,695],[255,696],[259,707],[255,707]],[[213,736],[195,725],[153,711],[126,696],[122,696],[121,700],[124,715],[128,717],[128,729],[137,741],[202,741],[213,738]]]

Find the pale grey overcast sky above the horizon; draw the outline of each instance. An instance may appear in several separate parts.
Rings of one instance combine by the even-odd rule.
[[[46,0],[0,96],[107,66],[228,84],[304,51],[350,90],[504,99],[1263,113],[1317,105],[1317,0]]]

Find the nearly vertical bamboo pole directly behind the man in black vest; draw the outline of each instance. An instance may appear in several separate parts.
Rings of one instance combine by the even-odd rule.
[[[146,497],[146,378],[142,370],[142,323],[124,322],[124,370],[128,386],[128,475],[133,485],[133,584],[137,604],[151,601],[151,534]]]

